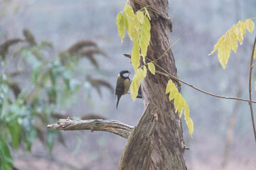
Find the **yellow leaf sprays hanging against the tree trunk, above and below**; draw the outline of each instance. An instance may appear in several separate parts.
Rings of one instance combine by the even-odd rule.
[[[146,65],[149,69],[149,72],[151,72],[151,74],[156,73],[154,61],[146,63],[146,52],[147,52],[147,47],[149,45],[150,36],[151,36],[150,35],[151,25],[149,20],[150,20],[150,16],[149,16],[149,12],[146,10],[146,7],[134,13],[132,6],[129,6],[128,3],[126,4],[126,6],[124,6],[124,11],[118,13],[117,15],[117,29],[119,32],[119,36],[121,38],[121,42],[123,42],[125,37],[124,30],[127,30],[129,38],[134,42],[134,45],[132,47],[131,60],[132,60],[132,65],[134,67],[135,75],[134,75],[134,78],[132,79],[132,84],[130,88],[133,101],[136,100],[139,86],[141,85],[142,79],[146,77],[146,74],[147,74]],[[169,47],[169,49],[170,48],[171,47]],[[168,50],[166,50],[166,52]],[[166,52],[164,52],[164,54]],[[142,67],[139,67],[140,65],[139,60],[141,59],[141,56],[142,56],[144,65]],[[162,55],[161,57],[163,56],[164,55]],[[176,91],[176,93],[175,94],[170,93],[172,91]],[[180,117],[184,111],[184,119],[186,120],[188,131],[192,135],[193,121],[189,116],[190,111],[188,108],[188,103],[186,103],[186,101],[181,96],[181,94],[178,93],[178,89],[176,88],[174,83],[171,81],[171,79],[169,80],[166,86],[166,94],[168,93],[170,93],[169,100],[171,101],[172,99],[174,99],[174,107],[176,108],[176,112],[180,114]]]

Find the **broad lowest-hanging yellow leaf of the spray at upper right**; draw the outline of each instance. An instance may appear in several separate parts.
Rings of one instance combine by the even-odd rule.
[[[218,47],[218,60],[225,69],[226,64],[228,64],[228,59],[230,57],[231,46],[230,39],[228,36],[225,36],[224,40],[221,42],[220,47]]]

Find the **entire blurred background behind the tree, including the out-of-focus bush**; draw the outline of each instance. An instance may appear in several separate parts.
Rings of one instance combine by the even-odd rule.
[[[122,69],[134,74],[122,55],[132,51],[132,42],[126,36],[121,43],[116,26],[125,3],[0,0],[0,146],[8,146],[6,155],[12,155],[17,169],[117,169],[127,140],[108,132],[47,130],[46,125],[92,115],[137,125],[142,100],[122,96],[117,110],[114,98],[117,74]],[[180,78],[213,94],[249,98],[255,31],[247,32],[236,54],[231,52],[225,70],[216,53],[208,54],[233,24],[255,17],[255,8],[255,0],[170,0],[171,40],[180,38],[172,48]],[[182,95],[194,123],[193,138],[183,125],[188,169],[256,168],[246,102],[183,85]]]

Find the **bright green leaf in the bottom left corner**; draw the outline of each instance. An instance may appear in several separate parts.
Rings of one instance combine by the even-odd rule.
[[[3,170],[12,170],[13,169],[13,159],[11,157],[11,152],[9,150],[8,145],[4,140],[0,138],[0,162],[1,169]]]

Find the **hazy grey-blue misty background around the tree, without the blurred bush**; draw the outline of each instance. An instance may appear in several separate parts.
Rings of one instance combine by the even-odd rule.
[[[27,29],[37,44],[51,42],[52,47],[41,50],[44,60],[50,61],[79,40],[95,42],[97,47],[92,46],[98,51],[92,54],[93,58],[81,57],[74,62],[75,67],[68,66],[72,67],[68,79],[82,86],[72,92],[73,96],[63,95],[65,101],[55,101],[60,104],[54,112],[73,118],[94,114],[137,125],[143,112],[142,100],[133,102],[129,94],[122,96],[117,110],[113,90],[117,74],[122,69],[128,69],[132,71],[131,76],[134,75],[129,58],[122,55],[132,51],[132,41],[126,36],[121,43],[116,26],[117,13],[122,11],[125,3],[119,0],[0,0],[0,44],[11,38],[23,38],[23,29]],[[255,31],[247,33],[236,55],[231,52],[225,70],[216,54],[208,54],[233,24],[255,17],[255,8],[255,0],[170,0],[169,17],[174,24],[171,40],[174,43],[180,38],[172,47],[180,79],[213,94],[249,98],[247,87]],[[22,43],[9,48],[6,72],[17,70],[19,63],[12,54]],[[34,60],[26,62],[35,64]],[[29,89],[31,67],[20,64],[23,72],[13,80],[21,90]],[[3,69],[2,65],[0,69]],[[252,80],[255,80],[255,75]],[[103,86],[98,86],[92,79],[104,80]],[[191,138],[183,125],[184,141],[190,148],[185,152],[188,169],[256,167],[256,145],[248,103],[207,96],[183,84],[181,88],[195,128]],[[252,95],[255,100],[255,91]],[[49,119],[48,123],[56,120]],[[40,127],[46,132],[46,125]],[[22,143],[17,150],[12,149],[14,166],[18,169],[117,169],[127,141],[108,132],[60,133],[63,139],[54,140],[54,145],[50,145],[53,147],[51,154],[47,149],[49,146],[46,147],[39,137],[31,145],[31,152]],[[228,145],[227,141],[230,141]]]

